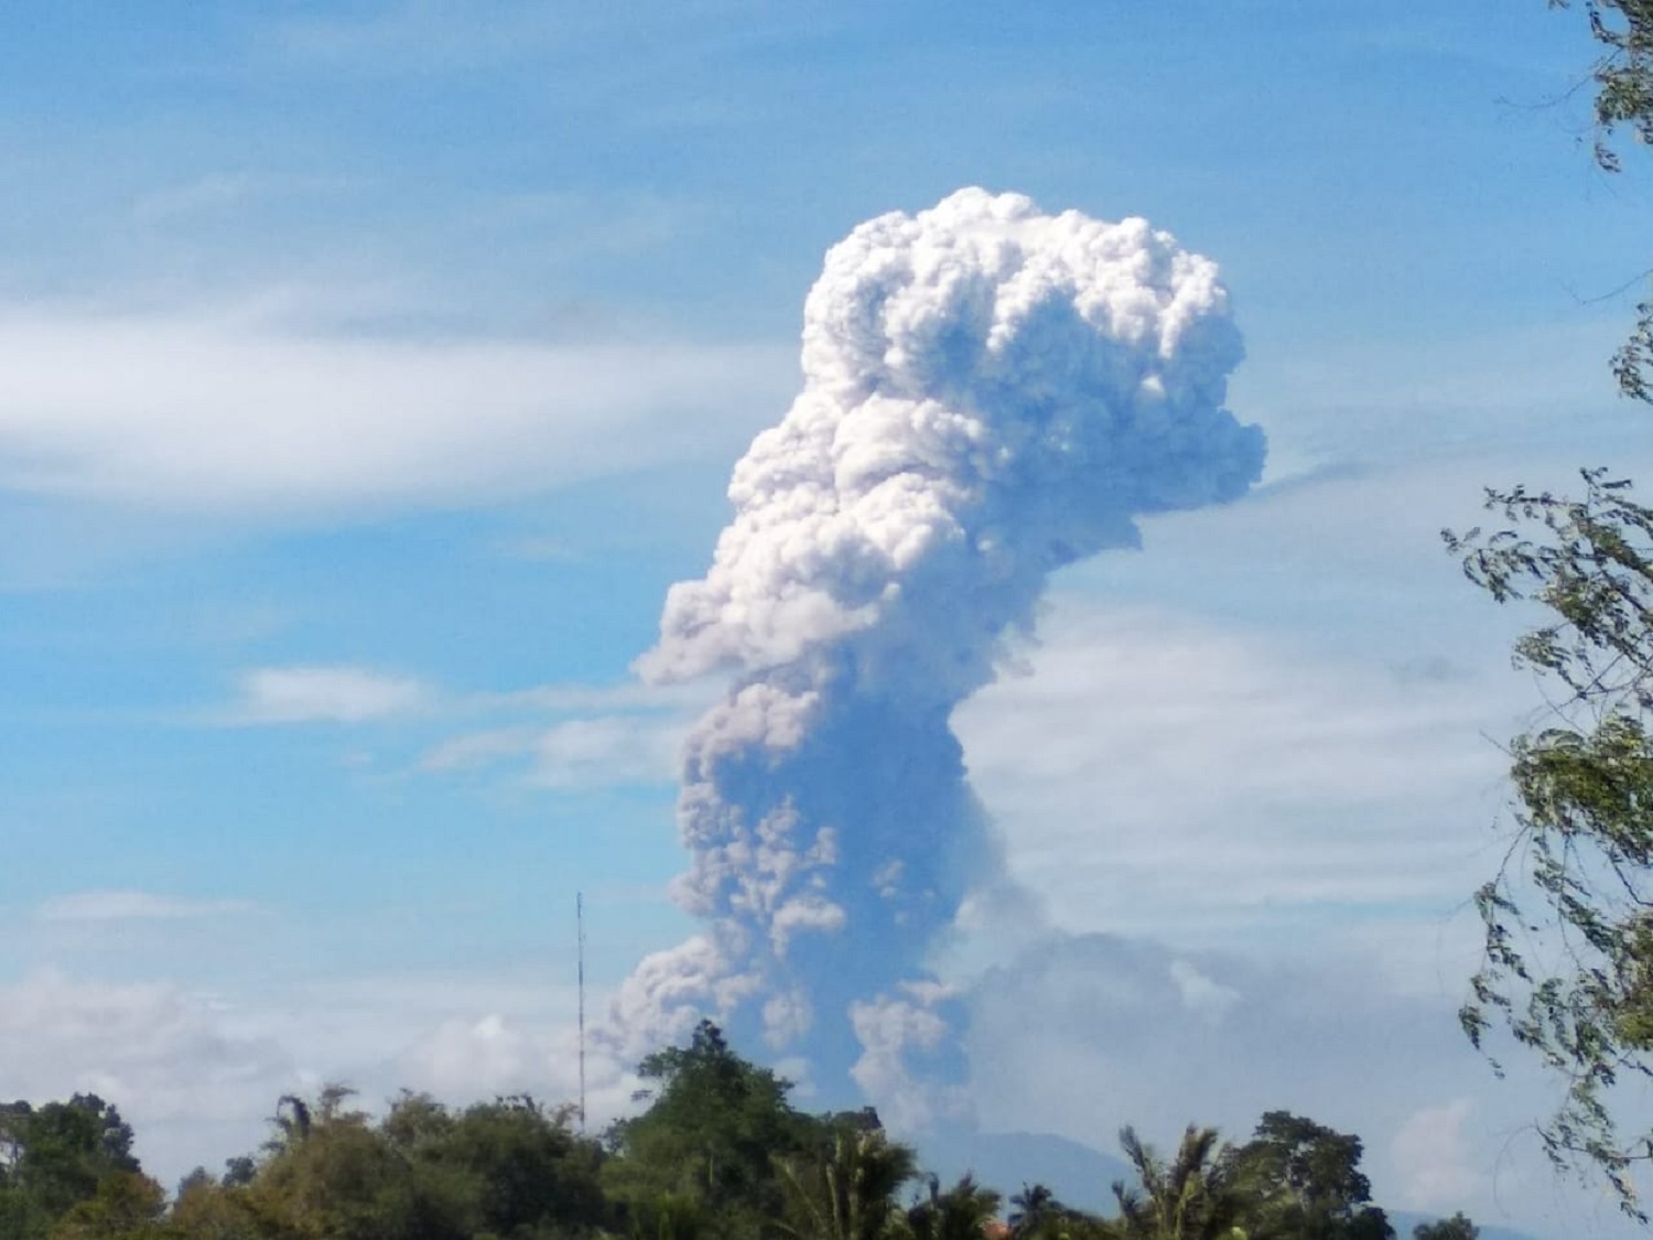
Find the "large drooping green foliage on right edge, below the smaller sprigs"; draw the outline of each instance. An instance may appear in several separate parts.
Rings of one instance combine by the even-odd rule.
[[[1461,1020],[1476,1047],[1499,1022],[1559,1075],[1547,1152],[1646,1220],[1630,1169],[1653,1134],[1622,1133],[1613,1099],[1653,1075],[1653,509],[1605,471],[1584,483],[1579,501],[1489,491],[1508,527],[1446,536],[1493,599],[1547,612],[1516,661],[1555,686],[1509,746],[1516,833],[1476,893],[1486,952]]]

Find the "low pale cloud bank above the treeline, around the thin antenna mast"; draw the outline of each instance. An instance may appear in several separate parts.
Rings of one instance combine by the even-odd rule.
[[[593,990],[593,1007],[607,1002]],[[392,974],[246,992],[116,984],[45,969],[0,982],[0,1098],[98,1093],[137,1129],[170,1184],[251,1152],[284,1093],[342,1081],[365,1109],[402,1088],[455,1104],[501,1093],[579,1093],[575,990],[542,977]],[[593,1126],[631,1108],[630,1060],[592,1040]]]

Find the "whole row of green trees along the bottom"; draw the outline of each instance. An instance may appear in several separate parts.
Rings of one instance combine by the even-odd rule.
[[[572,1108],[450,1109],[405,1093],[283,1098],[269,1141],[169,1199],[101,1098],[0,1106],[0,1240],[1389,1240],[1360,1139],[1270,1113],[1251,1141],[1190,1128],[1167,1157],[1126,1129],[1116,1214],[1045,1187],[942,1185],[873,1111],[805,1114],[712,1023],[640,1065],[648,1108],[600,1136]],[[1458,1215],[1418,1240],[1473,1240]]]

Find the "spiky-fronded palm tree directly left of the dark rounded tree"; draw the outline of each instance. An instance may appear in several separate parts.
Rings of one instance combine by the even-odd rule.
[[[1119,1131],[1119,1144],[1136,1167],[1141,1189],[1114,1180],[1119,1225],[1126,1240],[1245,1240],[1236,1225],[1240,1199],[1215,1171],[1215,1128],[1182,1134],[1177,1157],[1165,1164],[1136,1129]]]

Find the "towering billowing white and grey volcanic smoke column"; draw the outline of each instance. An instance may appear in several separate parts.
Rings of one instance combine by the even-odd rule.
[[[969,188],[828,251],[803,392],[640,663],[734,683],[683,764],[678,896],[707,931],[638,969],[623,1025],[760,1027],[922,1123],[946,1091],[916,1083],[959,1073],[926,954],[1002,880],[949,716],[1051,570],[1256,481],[1263,435],[1223,408],[1240,357],[1215,265],[1144,220]]]

